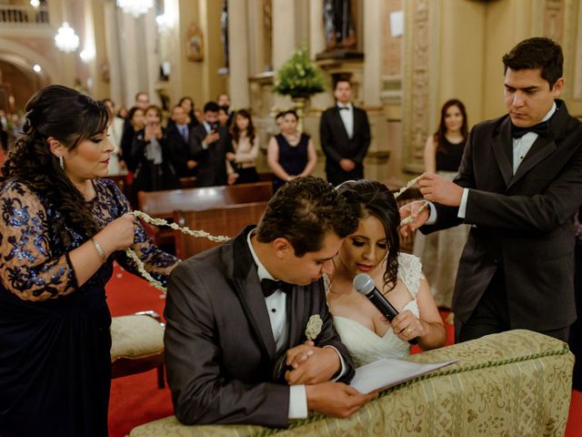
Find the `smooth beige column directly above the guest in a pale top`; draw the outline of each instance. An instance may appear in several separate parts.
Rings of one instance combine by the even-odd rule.
[[[228,2],[228,89],[232,106],[250,107],[246,0]]]

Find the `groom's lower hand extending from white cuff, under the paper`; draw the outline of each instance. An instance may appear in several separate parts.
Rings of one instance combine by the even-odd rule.
[[[306,385],[307,408],[326,416],[345,419],[373,401],[377,391],[364,394],[343,382]]]

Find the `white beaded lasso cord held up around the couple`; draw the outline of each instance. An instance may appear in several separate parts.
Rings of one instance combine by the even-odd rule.
[[[396,193],[394,194],[394,197],[398,198],[402,193],[404,193],[406,191],[406,189],[415,185],[419,178],[420,177],[409,180],[408,183],[406,184],[406,186],[404,186],[403,188],[400,188],[398,191],[396,191]],[[423,209],[425,209],[426,205],[427,205],[427,203],[425,203],[422,207],[418,208],[416,210],[416,214],[419,213],[420,211],[422,211]],[[214,236],[214,235],[210,235],[208,232],[205,232],[204,230],[193,230],[193,229],[189,229],[186,226],[181,227],[177,223],[168,223],[168,221],[166,219],[154,219],[153,217],[148,216],[145,212],[142,212],[142,211],[135,210],[135,211],[129,212],[129,214],[131,214],[132,216],[134,216],[137,219],[142,219],[146,223],[149,223],[151,225],[167,226],[171,229],[179,230],[180,232],[183,232],[186,235],[190,235],[190,236],[196,237],[196,238],[209,239],[211,241],[216,241],[217,243],[222,243],[222,242],[228,241],[230,239],[230,237],[226,237],[225,235]],[[416,216],[415,217],[408,216],[408,217],[406,217],[406,219],[403,219],[400,222],[400,226],[406,225],[406,224],[410,223],[411,221],[413,221],[414,219],[416,219]],[[127,257],[129,259],[132,259],[135,262],[135,266],[137,267],[137,270],[142,275],[142,277],[150,283],[150,285],[155,287],[157,290],[160,290],[160,291],[166,293],[166,288],[162,285],[162,283],[159,280],[155,279],[154,277],[152,277],[152,275],[149,274],[149,272],[146,270],[146,265],[144,264],[144,262],[141,259],[139,259],[139,257],[137,256],[137,254],[135,253],[135,251],[133,249],[125,249],[125,255],[127,255]]]

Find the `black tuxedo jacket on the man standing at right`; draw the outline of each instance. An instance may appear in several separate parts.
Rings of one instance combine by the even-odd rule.
[[[556,100],[550,137],[537,137],[512,175],[508,116],[471,131],[455,182],[470,188],[453,308],[466,322],[503,268],[511,328],[557,330],[576,319],[573,217],[582,204],[582,124]],[[462,222],[458,208],[436,204],[423,233]]]

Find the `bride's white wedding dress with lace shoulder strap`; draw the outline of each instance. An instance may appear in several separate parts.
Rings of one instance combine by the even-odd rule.
[[[420,259],[414,255],[400,253],[398,255],[398,279],[404,283],[413,298],[406,303],[402,310],[410,310],[418,317],[416,293],[420,280],[425,279]],[[333,319],[337,333],[346,345],[356,367],[382,358],[406,357],[410,353],[410,344],[398,339],[392,328],[389,328],[386,334],[380,337],[376,332],[367,329],[356,320],[339,316],[333,316]]]

